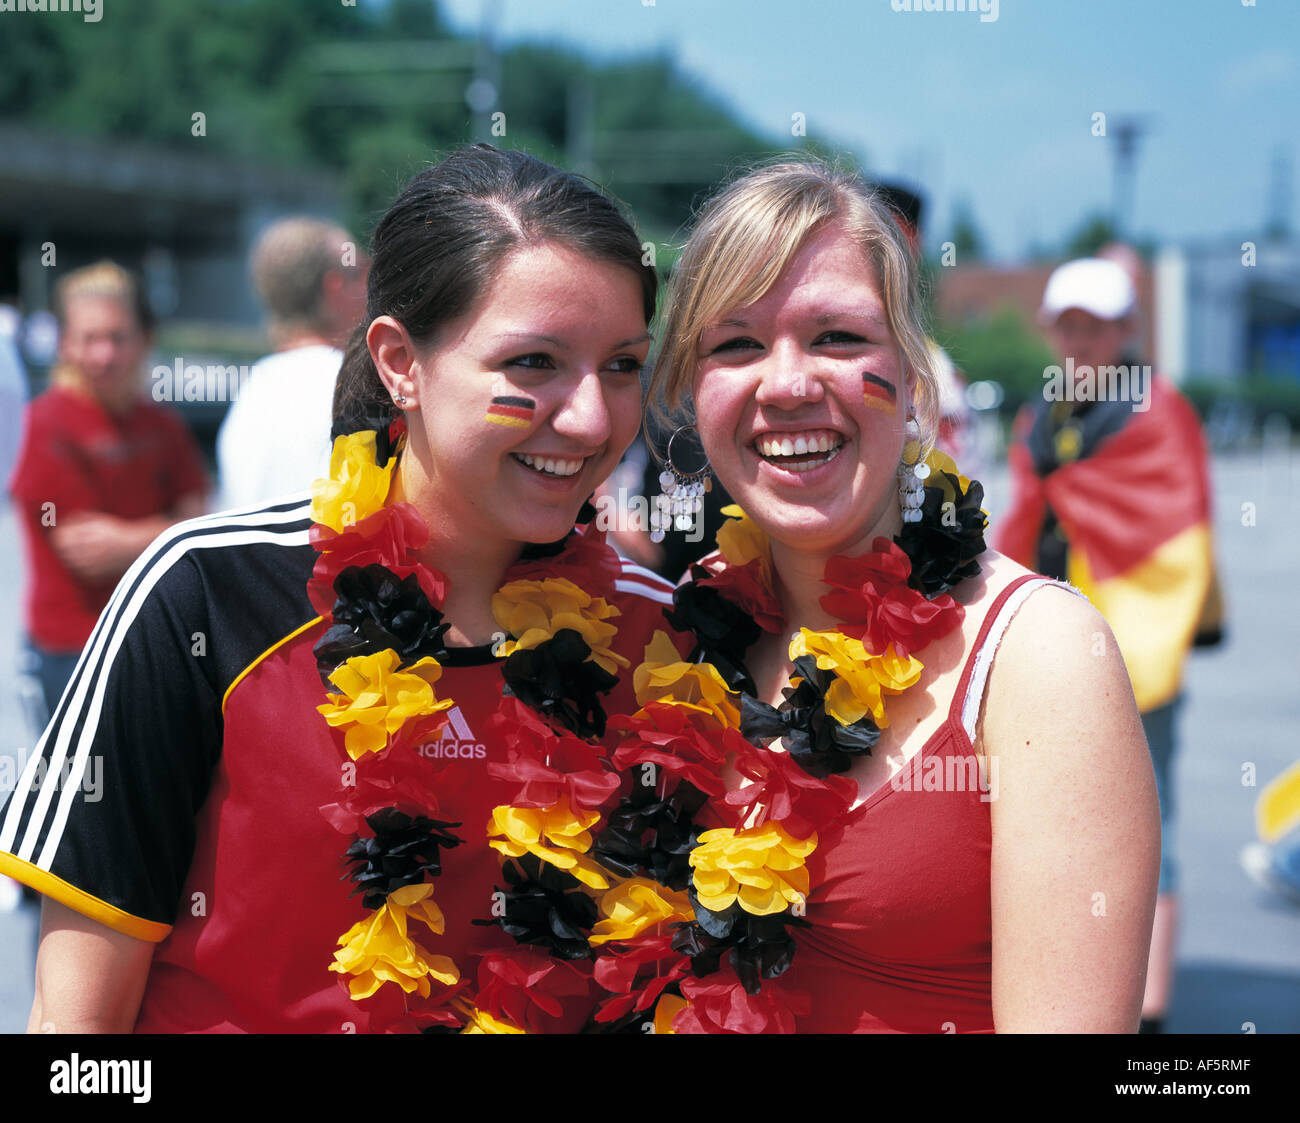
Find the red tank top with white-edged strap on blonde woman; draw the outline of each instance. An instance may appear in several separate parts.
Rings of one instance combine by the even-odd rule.
[[[896,776],[820,833],[807,859],[811,927],[796,933],[781,980],[811,1000],[801,1033],[993,1032],[997,772],[982,767],[971,737],[1001,632],[1041,584],[1054,582],[1026,574],[994,598],[944,723]]]

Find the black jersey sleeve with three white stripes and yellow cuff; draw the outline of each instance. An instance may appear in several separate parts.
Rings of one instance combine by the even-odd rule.
[[[263,638],[256,595],[220,603],[240,584],[218,580],[240,556],[226,547],[306,546],[308,525],[302,511],[208,516],[135,562],[0,812],[0,873],[118,932],[166,937],[221,754],[222,691],[239,649]]]

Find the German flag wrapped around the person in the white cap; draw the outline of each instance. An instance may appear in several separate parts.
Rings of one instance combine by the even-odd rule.
[[[1011,508],[996,549],[1063,577],[1106,617],[1138,708],[1170,702],[1212,604],[1209,461],[1200,420],[1167,381],[1149,408],[1041,403],[1017,419]]]

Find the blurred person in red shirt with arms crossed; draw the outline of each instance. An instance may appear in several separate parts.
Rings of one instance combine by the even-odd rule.
[[[143,393],[153,325],[135,279],[109,261],[78,269],[55,313],[58,364],[27,408],[10,484],[47,716],[118,578],[162,530],[202,515],[208,489],[185,422]]]

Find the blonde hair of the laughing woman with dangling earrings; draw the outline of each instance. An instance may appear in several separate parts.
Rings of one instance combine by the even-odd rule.
[[[838,222],[871,263],[889,330],[916,377],[914,411],[924,451],[939,424],[939,380],[918,295],[916,263],[883,196],[822,160],[783,157],[748,172],[701,209],[677,259],[664,311],[664,344],[650,377],[650,409],[688,416],[701,333],[725,312],[760,300],[803,243]],[[670,422],[671,424],[671,422]]]

